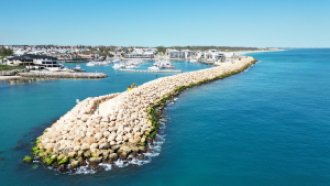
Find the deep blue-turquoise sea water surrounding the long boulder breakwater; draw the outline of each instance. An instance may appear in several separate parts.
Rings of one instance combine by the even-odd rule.
[[[109,77],[0,82],[0,185],[330,185],[330,49],[247,55],[259,63],[185,90],[167,107],[166,127],[158,136],[165,142],[151,162],[86,175],[60,174],[41,164],[32,169],[35,164],[21,159],[76,99],[172,74],[80,64]],[[210,67],[173,64],[185,72]]]

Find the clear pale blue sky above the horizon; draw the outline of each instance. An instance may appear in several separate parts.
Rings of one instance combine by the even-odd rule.
[[[330,47],[330,0],[0,0],[0,45]]]

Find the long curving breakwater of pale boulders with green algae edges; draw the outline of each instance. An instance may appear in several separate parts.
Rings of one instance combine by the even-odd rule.
[[[143,158],[151,152],[167,100],[186,88],[221,79],[248,68],[256,60],[158,78],[131,91],[87,98],[57,120],[37,138],[33,157],[60,171],[78,166],[112,164],[118,158]],[[93,167],[92,167],[93,168]]]

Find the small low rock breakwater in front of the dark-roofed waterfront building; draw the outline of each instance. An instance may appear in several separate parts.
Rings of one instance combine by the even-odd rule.
[[[73,73],[73,72],[23,72],[22,77],[51,77],[51,78],[106,78],[103,73]]]

